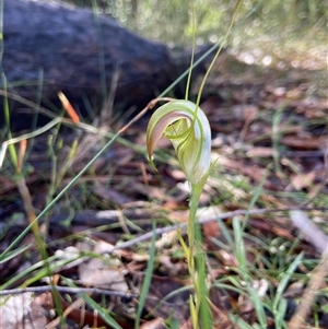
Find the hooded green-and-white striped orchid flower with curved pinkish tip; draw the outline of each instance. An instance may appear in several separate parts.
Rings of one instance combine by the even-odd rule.
[[[211,167],[211,128],[203,110],[189,101],[172,101],[152,115],[147,129],[148,155],[164,134],[173,144],[178,162],[191,184],[208,176]]]

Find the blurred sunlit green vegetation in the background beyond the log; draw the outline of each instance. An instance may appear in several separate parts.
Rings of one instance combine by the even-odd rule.
[[[67,0],[113,16],[138,34],[167,44],[190,45],[189,1],[180,0]],[[227,30],[238,1],[195,0],[197,43],[216,42]],[[327,12],[324,0],[244,0],[237,21],[258,7],[229,40],[248,63],[271,62],[284,68],[317,69],[326,66]]]

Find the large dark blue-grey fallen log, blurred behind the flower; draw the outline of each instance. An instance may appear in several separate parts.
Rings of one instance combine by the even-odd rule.
[[[36,104],[60,107],[57,93],[61,91],[85,115],[82,99],[87,97],[93,105],[99,96],[104,101],[118,77],[115,102],[143,107],[188,68],[189,59],[188,51],[174,57],[167,46],[87,9],[49,1],[4,1],[0,87],[7,84],[8,92]],[[22,114],[26,105],[8,98],[11,129],[28,128],[32,116]]]

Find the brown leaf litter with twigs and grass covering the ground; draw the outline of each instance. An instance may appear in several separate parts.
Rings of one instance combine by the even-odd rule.
[[[304,322],[298,325],[327,328],[327,268],[321,270],[321,277],[315,274],[328,252],[327,98],[315,85],[313,71],[266,68],[249,73],[251,67],[235,63],[244,73],[236,75],[236,68],[225,67],[224,58],[218,63],[201,104],[211,124],[212,156],[216,161],[198,214],[206,220],[203,250],[212,283],[213,328],[241,328],[233,316],[250,326],[258,321],[239,271],[235,220],[244,225],[249,283],[259,298],[263,303],[274,298],[286,268],[303,252],[303,261],[296,265],[281,296],[286,305],[284,319],[291,326],[297,325],[297,307],[306,286],[313,284],[317,291],[303,310]],[[55,312],[54,292],[47,289],[50,278],[39,275],[43,267],[37,263],[42,260],[33,236],[27,234],[15,247],[26,248],[17,249],[16,255],[0,263],[4,292],[1,329],[114,328],[81,298],[87,289],[94,291],[85,294],[113,315],[121,328],[134,328],[138,296],[150,259],[151,235],[145,235],[151,233],[152,221],[162,230],[184,225],[188,216],[188,186],[171,157],[168,143],[161,143],[157,173],[145,161],[145,126],[144,119],[134,124],[125,136],[129,146],[116,143],[107,150],[43,219],[61,317]],[[38,210],[79,173],[105,140],[91,133],[54,132],[49,148],[49,136],[35,138],[24,164],[26,184]],[[78,146],[70,155],[74,141]],[[27,220],[9,165],[0,183],[3,252],[26,227]],[[296,208],[300,210],[289,213],[288,209]],[[245,213],[236,213],[235,219],[220,218],[239,210]],[[38,275],[40,279],[26,286],[31,278]],[[316,282],[308,282],[312,277]],[[45,291],[38,291],[42,287]],[[74,292],[60,291],[69,287]],[[140,328],[191,328],[190,293],[176,230],[163,231],[157,235],[154,273]],[[270,307],[266,309],[266,321],[268,328],[279,328]]]

